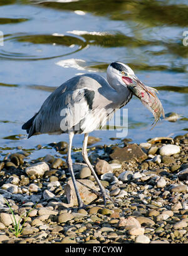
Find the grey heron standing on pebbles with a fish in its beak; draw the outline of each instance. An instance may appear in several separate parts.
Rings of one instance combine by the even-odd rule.
[[[85,205],[81,200],[73,172],[71,159],[73,136],[85,134],[81,154],[98,183],[105,205],[107,196],[105,189],[100,183],[86,151],[88,134],[99,126],[102,127],[116,109],[125,106],[132,98],[134,90],[131,88],[135,87],[142,87],[142,90],[144,88],[145,92],[157,98],[154,95],[154,88],[147,87],[140,82],[128,65],[119,61],[113,62],[107,68],[107,80],[95,73],[89,73],[77,75],[60,85],[44,101],[41,109],[22,127],[22,129],[26,129],[28,138],[36,134],[68,133],[67,164],[79,208]],[[151,104],[149,103],[149,105]],[[161,114],[162,105],[159,105],[161,107],[157,112]]]

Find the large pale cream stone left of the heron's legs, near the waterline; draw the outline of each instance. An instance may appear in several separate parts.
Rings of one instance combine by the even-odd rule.
[[[29,177],[30,176],[43,177],[45,171],[49,171],[49,170],[50,168],[48,164],[46,164],[45,162],[40,162],[40,163],[32,164],[31,166],[26,168],[26,174],[28,174]]]

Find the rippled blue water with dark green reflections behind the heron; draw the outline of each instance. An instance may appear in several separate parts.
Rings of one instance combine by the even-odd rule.
[[[0,0],[0,151],[33,149],[33,157],[54,154],[51,142],[61,136],[26,139],[21,125],[32,117],[55,87],[69,78],[95,72],[106,77],[112,61],[130,65],[142,82],[159,90],[165,114],[150,131],[152,114],[133,99],[128,135],[134,142],[188,131],[188,5],[183,0]],[[188,40],[187,40],[188,43]],[[111,144],[117,131],[94,131]],[[75,136],[80,147],[83,136]],[[114,141],[113,141],[114,143]],[[43,149],[37,151],[37,145]],[[47,147],[48,146],[48,147]],[[47,147],[47,149],[46,149]]]

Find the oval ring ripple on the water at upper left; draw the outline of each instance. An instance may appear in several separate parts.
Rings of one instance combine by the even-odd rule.
[[[12,48],[12,44],[15,47]],[[86,42],[75,36],[16,34],[4,36],[0,58],[6,60],[49,60],[76,53],[86,47]],[[11,51],[11,49],[13,51]],[[31,55],[31,53],[34,53]],[[61,53],[61,54],[60,54]]]

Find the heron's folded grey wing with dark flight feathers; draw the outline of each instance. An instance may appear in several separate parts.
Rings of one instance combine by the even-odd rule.
[[[88,88],[73,90],[71,86],[58,87],[44,101],[28,137],[33,135],[33,132],[50,134],[80,130],[80,121],[90,111],[92,97],[94,92]]]

